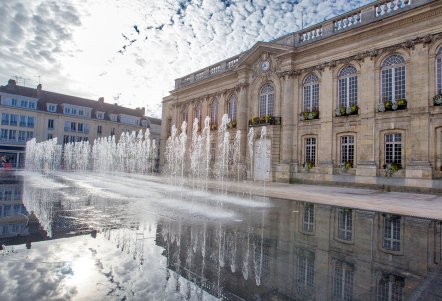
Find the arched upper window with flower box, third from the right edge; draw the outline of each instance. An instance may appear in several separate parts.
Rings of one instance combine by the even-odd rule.
[[[344,67],[339,72],[339,107],[351,107],[357,104],[358,76],[353,66]]]

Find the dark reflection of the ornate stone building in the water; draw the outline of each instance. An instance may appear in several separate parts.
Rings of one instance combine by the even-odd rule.
[[[226,300],[428,300],[442,275],[438,221],[280,202],[264,227],[160,223],[168,268]]]

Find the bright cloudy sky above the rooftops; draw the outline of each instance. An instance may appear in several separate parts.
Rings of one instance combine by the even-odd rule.
[[[370,0],[0,0],[0,84],[160,116],[174,79]]]

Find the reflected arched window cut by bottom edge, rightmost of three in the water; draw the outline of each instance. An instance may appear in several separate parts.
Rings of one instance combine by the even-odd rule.
[[[378,282],[377,301],[402,301],[404,286],[404,278],[392,274],[383,274]]]

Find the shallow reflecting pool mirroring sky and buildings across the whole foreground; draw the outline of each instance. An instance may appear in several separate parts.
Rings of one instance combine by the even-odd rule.
[[[0,174],[0,300],[442,300],[441,222],[172,187]]]

